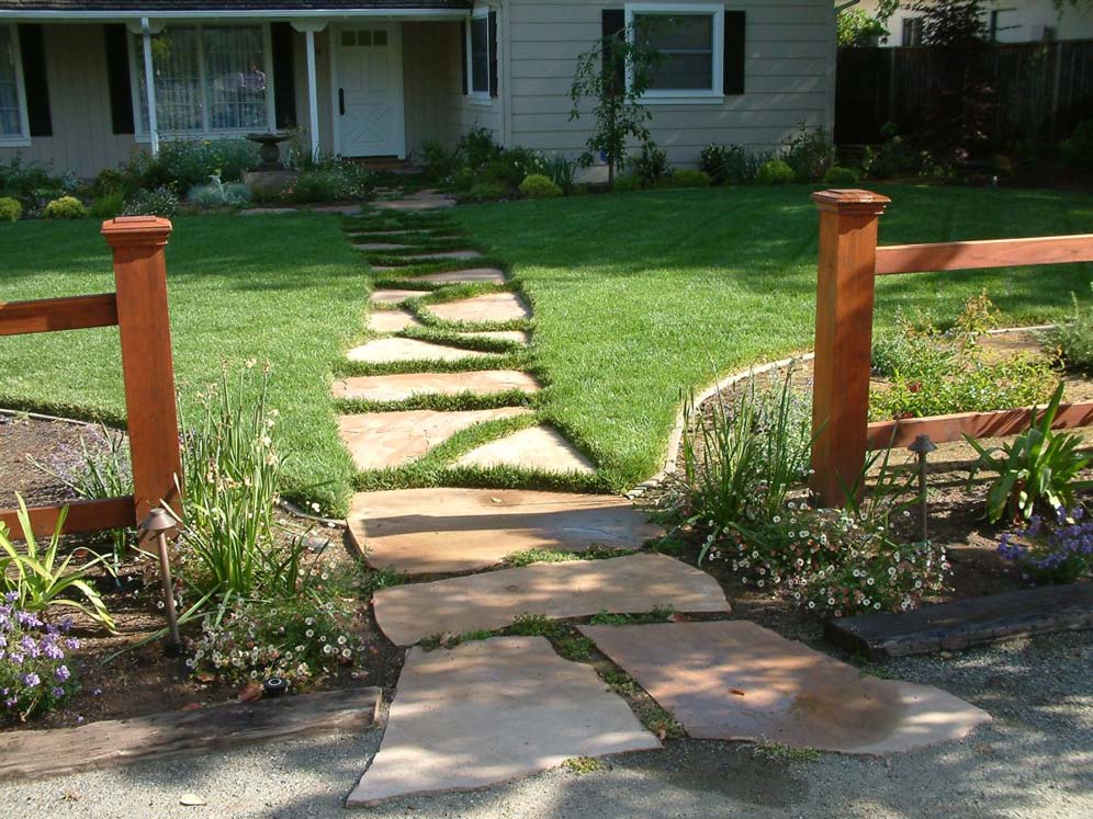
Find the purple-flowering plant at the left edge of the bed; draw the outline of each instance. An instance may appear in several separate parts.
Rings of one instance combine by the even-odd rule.
[[[25,720],[66,702],[79,690],[67,651],[79,640],[66,636],[69,621],[47,624],[34,612],[18,607],[9,592],[0,604],[0,715]]]

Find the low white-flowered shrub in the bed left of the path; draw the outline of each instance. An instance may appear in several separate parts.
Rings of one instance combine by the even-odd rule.
[[[187,666],[226,682],[282,676],[303,689],[364,650],[341,625],[346,617],[336,603],[307,593],[278,602],[226,599],[190,641]]]

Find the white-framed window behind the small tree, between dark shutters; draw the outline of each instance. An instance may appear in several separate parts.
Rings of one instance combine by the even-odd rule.
[[[720,99],[724,92],[724,7],[631,3],[627,27],[662,55],[647,96]]]

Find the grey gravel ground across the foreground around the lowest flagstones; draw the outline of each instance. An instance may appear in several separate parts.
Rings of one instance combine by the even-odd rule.
[[[380,808],[341,805],[379,746],[300,740],[199,759],[0,787],[0,817],[343,817],[370,819],[910,819],[1093,816],[1093,633],[1014,640],[887,671],[985,708],[969,739],[888,760],[780,759],[746,744],[680,741],[471,794]],[[182,807],[196,794],[206,807]]]

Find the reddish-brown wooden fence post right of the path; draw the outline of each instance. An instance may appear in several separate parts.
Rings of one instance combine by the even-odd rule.
[[[812,491],[842,507],[866,457],[877,227],[891,200],[820,191],[820,262],[812,389]]]

